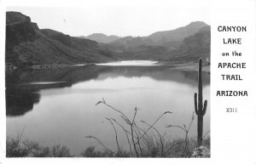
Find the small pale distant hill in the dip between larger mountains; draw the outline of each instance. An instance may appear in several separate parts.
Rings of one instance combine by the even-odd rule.
[[[86,39],[90,39],[90,40],[93,40],[93,41],[96,41],[96,42],[102,42],[102,43],[108,43],[108,42],[113,42],[115,40],[118,40],[120,37],[117,37],[117,36],[107,36],[105,34],[102,34],[102,33],[94,33],[94,34],[91,34],[90,36],[87,36],[87,37],[84,37],[84,36],[81,36],[83,38],[86,38]]]

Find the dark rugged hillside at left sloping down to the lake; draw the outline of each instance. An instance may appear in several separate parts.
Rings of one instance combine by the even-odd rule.
[[[39,30],[36,23],[19,12],[6,13],[6,63],[29,65],[79,64],[113,60],[98,43],[70,37],[58,31]]]

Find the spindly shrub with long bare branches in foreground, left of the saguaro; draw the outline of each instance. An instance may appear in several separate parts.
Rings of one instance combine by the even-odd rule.
[[[96,105],[106,105],[111,110],[115,111],[119,115],[118,121],[116,118],[106,118],[110,125],[113,127],[113,132],[115,133],[115,140],[118,147],[117,151],[108,149],[108,146],[103,144],[101,140],[97,139],[94,136],[86,136],[87,139],[95,139],[99,144],[104,147],[104,151],[101,153],[94,150],[94,147],[89,147],[87,150],[84,150],[83,156],[130,156],[131,157],[192,157],[195,149],[197,148],[197,140],[194,138],[189,138],[189,131],[194,122],[194,113],[192,114],[191,122],[189,125],[179,126],[179,125],[168,125],[166,127],[179,128],[183,131],[184,137],[181,139],[170,139],[170,137],[165,134],[161,134],[154,125],[166,114],[172,114],[171,111],[166,111],[156,118],[156,120],[149,124],[145,121],[140,121],[145,127],[141,125],[138,126],[136,121],[137,108],[132,118],[128,118],[121,110],[115,109],[112,105],[108,105],[105,99],[102,98],[102,101],[99,101]],[[124,155],[124,151],[120,150],[118,132],[116,127],[121,127],[123,133],[125,133],[127,143],[130,146],[130,153]],[[128,128],[130,127],[130,128]],[[207,150],[210,149],[210,138],[204,139],[203,141],[207,147]],[[108,153],[107,153],[108,152]],[[104,154],[103,154],[104,153]],[[204,156],[207,157],[207,156]]]

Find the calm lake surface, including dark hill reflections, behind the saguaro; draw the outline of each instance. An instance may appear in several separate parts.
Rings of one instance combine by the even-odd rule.
[[[154,64],[154,63],[150,63]],[[210,99],[210,75],[203,74],[204,99]],[[102,149],[92,135],[116,150],[113,127],[105,117],[122,122],[113,110],[97,105],[102,97],[109,105],[132,118],[137,107],[139,121],[156,124],[161,133],[172,139],[183,132],[166,125],[189,124],[194,111],[197,92],[197,72],[178,71],[163,65],[84,65],[73,68],[42,71],[16,70],[6,73],[7,136],[16,137],[25,127],[22,139],[30,139],[44,146],[67,145],[73,154],[91,145]],[[204,132],[210,130],[210,106],[204,117]],[[118,128],[119,143],[128,149],[125,134]],[[196,135],[196,120],[189,136]]]

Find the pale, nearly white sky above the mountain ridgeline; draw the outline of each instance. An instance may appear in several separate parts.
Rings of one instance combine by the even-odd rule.
[[[171,1],[170,1],[171,2]],[[210,24],[210,11],[206,5],[157,6],[121,5],[90,6],[80,8],[8,7],[30,16],[40,29],[49,28],[70,36],[88,36],[92,33],[106,35],[148,36],[155,31],[168,31],[188,25],[191,21]]]

